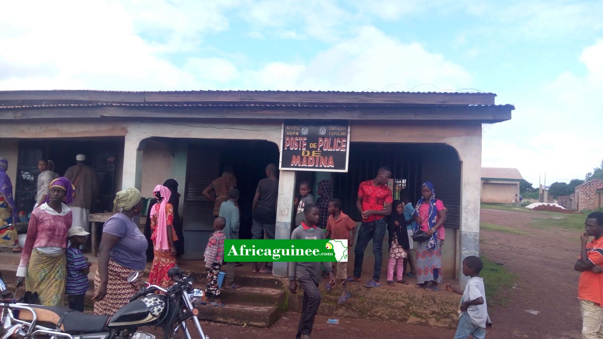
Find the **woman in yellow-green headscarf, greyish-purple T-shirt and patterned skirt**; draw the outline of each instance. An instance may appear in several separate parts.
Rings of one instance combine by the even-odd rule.
[[[113,206],[118,213],[103,226],[98,250],[98,270],[94,277],[94,314],[113,315],[138,291],[138,282],[128,282],[133,271],[147,264],[147,238],[140,232],[134,216],[142,211],[140,191],[124,189],[115,195]]]

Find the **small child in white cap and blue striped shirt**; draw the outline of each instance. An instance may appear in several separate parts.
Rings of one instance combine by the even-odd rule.
[[[69,308],[80,312],[84,311],[84,297],[90,287],[88,273],[92,266],[92,262],[88,262],[88,259],[81,253],[80,245],[86,244],[86,236],[89,234],[79,226],[72,226],[68,232],[71,246],[68,247],[66,253],[65,294],[69,300]]]

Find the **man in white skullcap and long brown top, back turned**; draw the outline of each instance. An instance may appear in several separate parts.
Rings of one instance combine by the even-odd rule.
[[[84,154],[78,154],[75,161],[77,163],[65,172],[65,177],[73,183],[76,192],[74,200],[69,204],[73,214],[72,226],[78,226],[86,232],[90,232],[88,216],[92,209],[92,202],[98,197],[98,182],[92,167],[86,165]]]

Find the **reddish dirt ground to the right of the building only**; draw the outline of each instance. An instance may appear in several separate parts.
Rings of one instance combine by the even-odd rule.
[[[580,338],[577,300],[579,231],[530,226],[537,212],[482,209],[481,222],[516,228],[525,234],[481,231],[481,253],[517,275],[516,287],[504,291],[505,306],[488,305],[494,328],[489,338]],[[537,315],[526,309],[540,311]]]

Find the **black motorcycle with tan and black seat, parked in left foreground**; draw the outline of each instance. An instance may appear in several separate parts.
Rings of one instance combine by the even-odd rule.
[[[125,306],[113,315],[93,315],[61,306],[40,306],[19,303],[13,298],[0,303],[0,339],[36,338],[51,339],[155,339],[155,335],[138,331],[142,326],[157,326],[163,329],[163,338],[175,338],[182,331],[185,338],[192,339],[187,320],[192,319],[201,339],[209,339],[197,319],[195,298],[203,292],[192,288],[192,278],[171,268],[168,276],[174,285],[167,290],[157,285],[142,287]],[[138,272],[130,274],[128,282],[138,279]],[[162,292],[160,294],[158,292]],[[0,294],[7,290],[0,274]],[[13,295],[14,296],[14,295]]]

